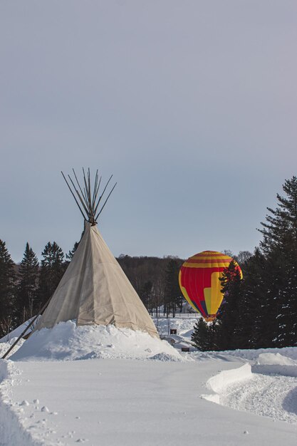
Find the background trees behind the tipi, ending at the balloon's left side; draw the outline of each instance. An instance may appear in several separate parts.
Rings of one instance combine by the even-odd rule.
[[[14,264],[4,241],[0,240],[0,337],[36,315],[52,296],[71,261],[78,242],[64,254],[56,242],[48,242],[39,263],[26,244],[23,259]],[[152,316],[168,316],[181,311],[178,272],[182,259],[174,256],[118,258],[128,279]]]

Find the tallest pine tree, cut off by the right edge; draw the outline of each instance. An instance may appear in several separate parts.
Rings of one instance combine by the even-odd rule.
[[[266,341],[278,347],[297,345],[297,177],[285,181],[283,192],[276,209],[267,208],[260,230],[271,280],[266,296],[271,336]]]

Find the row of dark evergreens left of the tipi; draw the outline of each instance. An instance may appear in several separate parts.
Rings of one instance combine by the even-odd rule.
[[[48,242],[41,255],[39,264],[27,242],[23,259],[16,265],[0,240],[0,336],[38,313],[66,271],[68,262],[56,242]]]

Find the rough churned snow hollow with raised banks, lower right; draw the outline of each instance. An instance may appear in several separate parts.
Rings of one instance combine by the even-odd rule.
[[[251,364],[209,378],[207,387],[215,393],[202,398],[235,410],[297,424],[296,372],[296,361],[292,358],[280,353],[260,353]]]

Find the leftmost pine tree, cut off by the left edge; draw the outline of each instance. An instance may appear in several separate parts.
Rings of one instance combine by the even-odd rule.
[[[0,336],[16,326],[14,317],[16,274],[5,242],[0,240]]]

